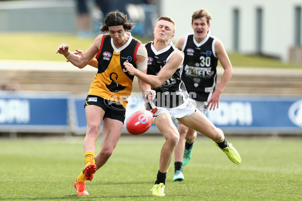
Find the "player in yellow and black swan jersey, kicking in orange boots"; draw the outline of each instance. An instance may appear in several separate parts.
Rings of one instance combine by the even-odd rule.
[[[78,195],[89,195],[86,180],[92,180],[97,169],[111,156],[121,135],[125,120],[127,97],[132,90],[133,75],[125,70],[127,61],[143,73],[147,71],[147,52],[140,41],[131,36],[134,23],[119,11],[110,12],[101,26],[102,32],[91,47],[83,54],[69,51],[68,45],[61,44],[56,53],[65,56],[74,66],[84,68],[93,58],[98,62],[98,73],[86,98],[85,112],[87,131],[84,139],[85,168],[74,181]],[[139,87],[148,98],[155,92],[150,85],[138,79]],[[95,143],[103,122],[102,142],[95,155]]]

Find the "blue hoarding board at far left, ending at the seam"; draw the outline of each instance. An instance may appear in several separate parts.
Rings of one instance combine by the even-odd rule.
[[[0,93],[0,130],[69,131],[68,94]]]

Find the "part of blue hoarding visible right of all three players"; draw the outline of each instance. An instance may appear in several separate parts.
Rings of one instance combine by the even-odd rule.
[[[302,133],[302,97],[222,96],[206,116],[224,131]]]

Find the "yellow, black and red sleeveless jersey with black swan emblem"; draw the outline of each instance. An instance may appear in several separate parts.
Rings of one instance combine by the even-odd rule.
[[[120,102],[126,108],[134,76],[129,75],[123,63],[128,60],[136,68],[136,52],[140,44],[140,41],[130,35],[128,42],[117,49],[111,42],[110,35],[104,34],[96,56],[99,62],[98,73],[90,85],[89,95]]]

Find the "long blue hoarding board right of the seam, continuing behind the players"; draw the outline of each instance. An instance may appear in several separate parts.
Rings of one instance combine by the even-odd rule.
[[[138,110],[144,110],[141,95],[132,93],[128,99],[126,120]],[[75,131],[85,133],[85,97],[74,99],[77,120]],[[301,96],[221,96],[219,108],[206,116],[225,133],[292,133],[302,134]],[[125,124],[124,124],[125,127]],[[123,133],[127,133],[124,128]],[[148,133],[159,133],[153,124]]]

